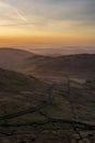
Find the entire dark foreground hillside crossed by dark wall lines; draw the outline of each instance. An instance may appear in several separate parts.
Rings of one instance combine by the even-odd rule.
[[[1,143],[70,143],[79,139],[74,129],[83,136],[93,134],[94,95],[83,84],[69,90],[66,84],[0,68]]]

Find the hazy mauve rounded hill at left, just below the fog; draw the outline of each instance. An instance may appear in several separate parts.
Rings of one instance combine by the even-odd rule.
[[[21,64],[25,58],[35,54],[17,48],[1,48],[0,47],[0,67],[12,69]]]

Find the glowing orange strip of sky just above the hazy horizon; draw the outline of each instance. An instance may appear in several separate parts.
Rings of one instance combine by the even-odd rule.
[[[61,35],[16,35],[0,36],[1,43],[27,44],[27,43],[59,43],[59,44],[95,44],[93,36],[61,36]]]

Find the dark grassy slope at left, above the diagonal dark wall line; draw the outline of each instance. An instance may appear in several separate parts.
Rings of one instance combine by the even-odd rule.
[[[47,100],[48,85],[33,77],[0,68],[0,113],[12,113]]]

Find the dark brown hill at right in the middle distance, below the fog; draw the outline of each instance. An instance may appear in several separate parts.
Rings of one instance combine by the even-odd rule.
[[[59,57],[34,56],[23,65],[26,73],[49,77],[95,77],[95,55],[81,54]],[[25,68],[24,68],[25,67]]]

